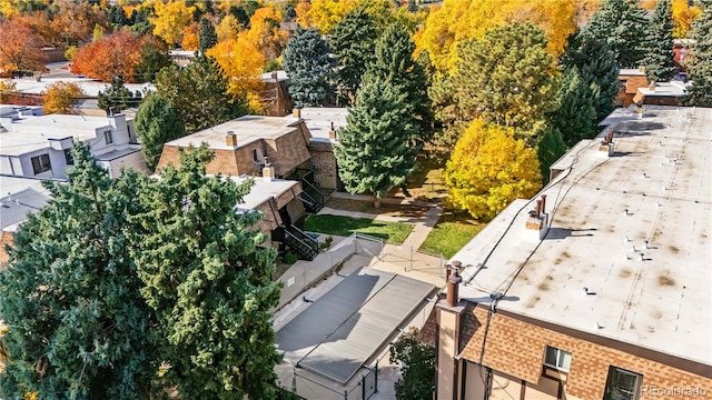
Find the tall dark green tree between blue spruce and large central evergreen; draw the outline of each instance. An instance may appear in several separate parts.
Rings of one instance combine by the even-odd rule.
[[[364,7],[348,12],[329,34],[329,43],[338,60],[337,102],[353,106],[366,68],[375,59],[378,31],[376,21]]]

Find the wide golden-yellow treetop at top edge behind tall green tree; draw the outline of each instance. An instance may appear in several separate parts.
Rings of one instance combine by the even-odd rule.
[[[576,30],[576,12],[574,0],[445,0],[415,36],[416,52],[427,50],[438,71],[452,72],[459,43],[479,40],[492,28],[528,22],[546,33],[548,52],[558,57]]]

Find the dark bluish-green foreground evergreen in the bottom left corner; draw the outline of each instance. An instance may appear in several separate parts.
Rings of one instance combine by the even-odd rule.
[[[8,352],[6,399],[149,398],[159,359],[155,318],[128,257],[128,216],[137,181],[112,184],[83,144],[69,184],[48,182],[52,200],[14,234],[0,272]]]

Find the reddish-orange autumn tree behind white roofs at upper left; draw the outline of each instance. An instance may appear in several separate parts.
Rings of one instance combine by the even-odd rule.
[[[71,71],[103,82],[110,82],[113,77],[135,82],[144,43],[137,34],[120,30],[81,48],[72,58]]]

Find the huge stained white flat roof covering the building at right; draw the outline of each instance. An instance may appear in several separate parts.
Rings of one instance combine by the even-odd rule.
[[[517,200],[453,257],[461,298],[712,364],[712,109],[623,114],[542,191],[544,240]]]

